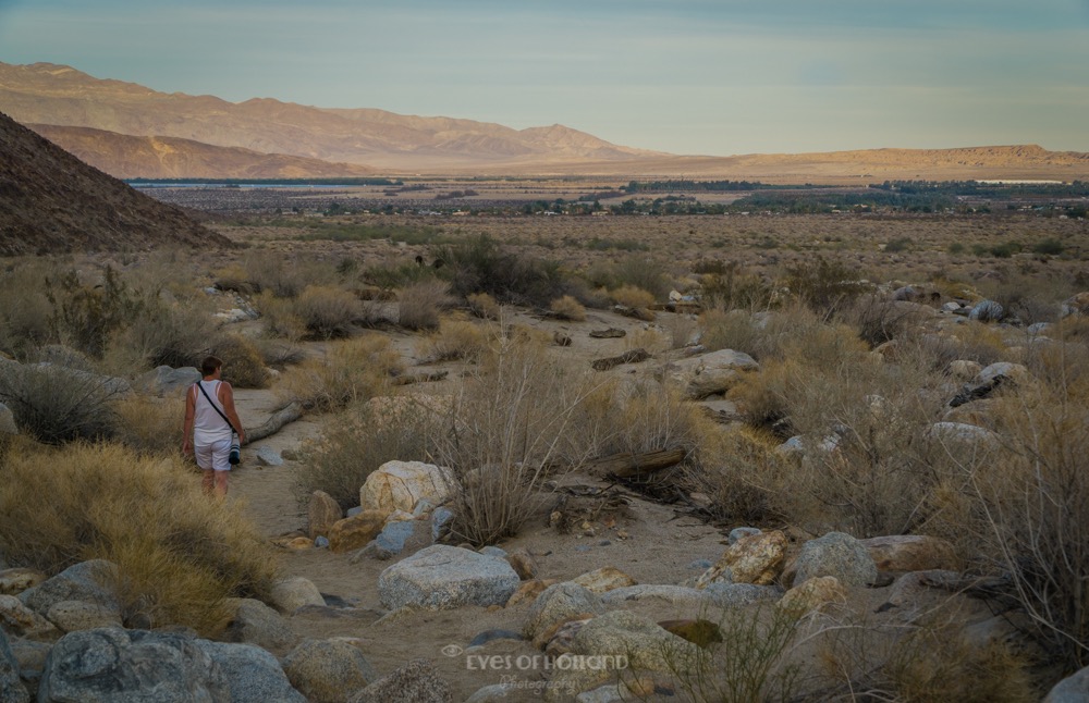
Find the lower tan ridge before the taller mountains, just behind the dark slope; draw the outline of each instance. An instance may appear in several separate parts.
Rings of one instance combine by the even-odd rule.
[[[133,137],[89,127],[27,125],[82,161],[119,178],[320,178],[366,176],[374,169],[351,163],[241,147],[213,147],[176,137]]]

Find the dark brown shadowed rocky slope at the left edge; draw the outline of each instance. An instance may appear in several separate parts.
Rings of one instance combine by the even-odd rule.
[[[0,256],[227,243],[0,113]]]

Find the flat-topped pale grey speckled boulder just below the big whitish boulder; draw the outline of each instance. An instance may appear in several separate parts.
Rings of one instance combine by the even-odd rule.
[[[394,564],[378,577],[382,606],[444,610],[462,605],[503,605],[521,579],[505,560],[436,544]]]

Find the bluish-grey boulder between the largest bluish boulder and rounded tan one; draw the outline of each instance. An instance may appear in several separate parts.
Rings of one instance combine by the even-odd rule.
[[[196,640],[196,644],[223,673],[231,703],[307,703],[292,688],[280,663],[264,649],[208,640]]]

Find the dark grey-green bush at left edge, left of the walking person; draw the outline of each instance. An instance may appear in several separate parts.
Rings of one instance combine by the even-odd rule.
[[[123,392],[117,379],[60,366],[0,366],[0,402],[22,431],[46,444],[111,436],[111,403]]]

